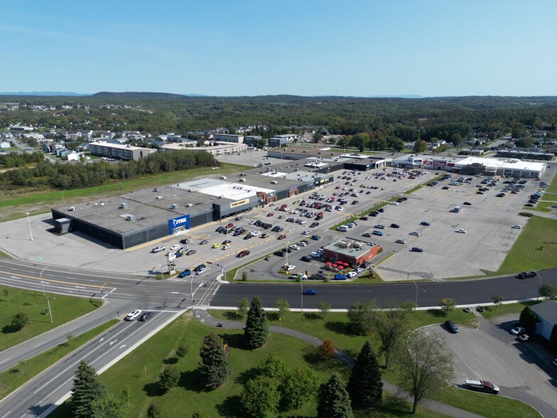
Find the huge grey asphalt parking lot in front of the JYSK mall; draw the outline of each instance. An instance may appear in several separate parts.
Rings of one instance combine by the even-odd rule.
[[[274,159],[270,160],[273,164],[278,163]],[[292,162],[283,161],[283,165],[286,164]],[[480,189],[477,186],[485,186],[481,184],[485,178],[474,177],[470,183],[449,186],[450,181],[458,178],[453,176],[436,186],[426,186],[409,195],[402,194],[421,183],[428,183],[442,173],[424,171],[423,176],[411,179],[410,176],[404,175],[400,168],[397,174],[394,174],[393,168],[367,172],[338,171],[333,183],[315,189],[321,196],[318,200],[310,199],[314,191],[309,191],[303,195],[280,200],[274,205],[255,208],[242,214],[241,220],[232,217],[220,223],[209,223],[183,235],[168,237],[125,251],[109,247],[79,233],[57,235],[50,232],[50,214],[37,215],[30,218],[33,241],[28,239],[26,218],[4,223],[2,229],[5,239],[2,241],[2,250],[29,261],[37,262],[40,257],[45,264],[82,267],[109,273],[156,275],[160,272],[160,264],[166,264],[165,255],[170,247],[187,238],[190,242],[185,245],[188,247],[185,254],[191,250],[195,250],[195,254],[178,257],[175,260],[177,271],[207,264],[207,272],[203,276],[215,277],[222,268],[232,269],[271,254],[269,260],[262,259],[249,267],[249,270],[253,270],[249,271],[249,277],[278,279],[286,278],[285,275],[278,274],[279,268],[286,264],[286,257],[288,263],[296,265],[295,272],[315,273],[323,270],[323,263],[316,257],[310,257],[310,253],[330,242],[349,237],[382,245],[384,252],[372,260],[374,264],[387,254],[391,255],[377,267],[377,272],[387,281],[416,278],[438,280],[444,277],[481,275],[482,269],[497,270],[521,232],[521,229],[514,229],[512,225],[523,226],[526,223],[527,218],[518,216],[517,213],[524,205],[525,198],[536,191],[537,182],[531,180],[524,184],[523,191],[517,194],[507,193],[498,198],[497,193],[507,186],[503,184],[504,179],[500,179],[495,186],[489,186],[489,191],[477,194]],[[388,203],[388,200],[395,196],[404,196],[407,200],[386,205],[382,213],[375,217],[369,216],[367,210],[379,203]],[[347,200],[340,204],[340,198]],[[305,200],[304,205],[301,205],[301,200]],[[298,203],[294,204],[296,201]],[[332,211],[324,210],[323,206],[319,209],[308,208],[310,201],[335,205],[337,208]],[[465,202],[470,205],[466,205]],[[278,210],[282,205],[286,205],[286,212]],[[451,212],[455,206],[460,206],[459,213]],[[301,212],[290,213],[291,210]],[[302,210],[314,211],[315,215],[323,212],[323,219],[316,220],[315,215],[304,218]],[[361,213],[366,213],[367,220],[357,220],[357,225],[348,228],[347,232],[329,229],[332,225],[346,222],[347,219]],[[306,222],[287,222],[288,218],[298,218]],[[264,229],[250,225],[256,220],[270,223],[272,226]],[[310,227],[315,222],[318,222],[318,225]],[[421,225],[423,222],[429,225]],[[217,227],[228,223],[234,224],[228,228],[228,235],[216,232]],[[391,227],[391,224],[399,227]],[[379,228],[375,225],[384,227]],[[283,230],[272,232],[276,226]],[[244,234],[234,236],[234,227],[243,227]],[[465,230],[465,233],[455,232],[456,230]],[[260,232],[260,235],[245,239],[249,231]],[[305,236],[304,231],[310,231],[310,234]],[[415,235],[411,235],[412,233]],[[364,234],[371,237],[362,236]],[[281,235],[285,235],[283,240],[278,239]],[[322,239],[308,239],[307,246],[291,250],[291,253],[284,254],[284,257],[272,255],[277,250],[309,238],[310,235],[319,235]],[[207,243],[201,245],[205,240]],[[230,241],[227,249],[222,244],[225,240]],[[404,243],[397,243],[396,240]],[[157,245],[165,247],[165,250],[151,252]],[[421,248],[423,252],[410,251],[413,247]],[[249,251],[249,254],[237,257],[237,254],[244,250]],[[310,257],[310,261],[301,261],[301,257],[304,256]]]

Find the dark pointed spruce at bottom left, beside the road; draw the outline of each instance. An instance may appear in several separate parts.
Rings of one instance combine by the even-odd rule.
[[[77,368],[72,387],[72,413],[75,418],[91,417],[93,402],[107,395],[107,388],[99,381],[97,373],[85,360]]]

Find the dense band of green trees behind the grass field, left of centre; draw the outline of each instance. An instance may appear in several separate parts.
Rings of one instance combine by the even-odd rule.
[[[20,157],[21,161],[26,161],[25,159],[29,157],[22,157],[24,155],[26,154],[19,154],[12,161],[19,161]],[[32,161],[36,161],[42,154],[37,152],[29,155]],[[106,161],[53,164],[42,158],[36,161],[34,166],[15,168],[1,173],[0,184],[4,187],[31,186],[69,190],[101,186],[107,181],[218,166],[220,163],[212,154],[189,150],[156,152],[138,161],[119,161],[117,164],[109,164]]]

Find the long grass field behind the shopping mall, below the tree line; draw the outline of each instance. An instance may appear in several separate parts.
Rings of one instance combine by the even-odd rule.
[[[161,186],[162,184],[186,181],[190,178],[199,176],[208,176],[215,173],[234,173],[246,168],[252,167],[223,163],[220,168],[216,170],[212,168],[201,168],[172,171],[171,173],[161,173],[156,176],[132,178],[131,180],[124,181],[111,181],[102,186],[64,191],[64,195],[62,195],[62,191],[28,191],[27,195],[13,198],[0,198],[0,222],[21,218],[22,214],[25,212],[31,212],[33,215],[48,212],[53,205],[63,205],[63,201],[65,201],[66,205],[71,205],[92,199],[108,198],[140,188],[150,188],[153,186]]]

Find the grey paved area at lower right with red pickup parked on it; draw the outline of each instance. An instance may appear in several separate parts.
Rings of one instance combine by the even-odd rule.
[[[524,343],[503,343],[465,326],[457,334],[440,324],[423,329],[443,336],[453,351],[455,385],[462,387],[465,379],[489,380],[499,386],[500,395],[526,402],[544,417],[556,416],[557,380],[528,358],[521,348]]]

